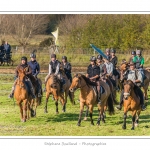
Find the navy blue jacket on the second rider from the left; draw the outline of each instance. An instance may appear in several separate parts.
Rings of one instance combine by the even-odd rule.
[[[40,65],[36,60],[35,61],[29,61],[28,65],[32,69],[32,75],[37,76],[40,73]]]

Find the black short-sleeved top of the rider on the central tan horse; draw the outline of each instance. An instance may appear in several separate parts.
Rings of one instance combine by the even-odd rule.
[[[96,65],[94,67],[92,67],[92,65],[89,65],[87,69],[87,74],[89,75],[89,78],[100,75],[100,68]]]

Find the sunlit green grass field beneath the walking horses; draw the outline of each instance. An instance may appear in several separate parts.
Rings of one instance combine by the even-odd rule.
[[[43,80],[44,75],[39,75]],[[0,136],[149,136],[150,135],[150,109],[148,102],[147,110],[140,115],[139,126],[131,131],[131,113],[128,113],[127,129],[122,130],[123,110],[115,111],[115,115],[106,113],[106,123],[96,125],[98,118],[97,108],[94,108],[94,126],[90,120],[82,121],[77,126],[79,116],[78,94],[75,93],[76,105],[72,106],[68,100],[66,112],[61,111],[59,103],[59,114],[55,114],[55,104],[50,98],[48,113],[44,113],[45,93],[42,104],[37,108],[37,116],[26,123],[20,122],[19,107],[14,107],[12,99],[8,99],[13,82],[12,75],[0,75]],[[118,94],[119,101],[119,94]],[[83,115],[84,117],[84,115]]]

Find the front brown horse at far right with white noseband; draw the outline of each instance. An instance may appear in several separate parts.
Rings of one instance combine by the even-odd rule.
[[[135,125],[138,125],[139,116],[141,112],[140,99],[134,92],[134,83],[131,80],[124,81],[124,121],[123,129],[126,129],[127,112],[132,112],[132,128],[134,130]],[[136,117],[137,116],[137,117]]]

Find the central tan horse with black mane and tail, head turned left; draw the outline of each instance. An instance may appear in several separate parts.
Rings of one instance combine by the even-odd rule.
[[[100,121],[102,119],[103,122],[105,122],[104,119],[104,111],[106,111],[108,106],[109,114],[114,114],[114,107],[113,107],[113,99],[111,97],[111,91],[109,88],[109,85],[105,82],[101,81],[101,85],[105,89],[105,92],[101,95],[101,105],[97,104],[97,94],[93,86],[96,86],[96,83],[93,83],[90,81],[90,79],[86,78],[82,74],[76,74],[72,80],[72,84],[69,88],[71,92],[74,92],[76,89],[80,88],[80,114],[77,125],[81,125],[81,117],[84,110],[84,106],[86,105],[87,108],[90,111],[90,119],[91,119],[91,125],[94,125],[92,114],[93,114],[93,108],[97,104],[98,111],[99,111],[99,117],[97,120],[97,125],[100,125]]]

